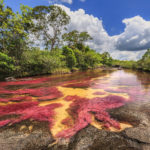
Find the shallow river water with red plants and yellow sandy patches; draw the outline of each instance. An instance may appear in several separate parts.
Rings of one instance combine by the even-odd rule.
[[[119,132],[132,125],[114,120],[107,111],[149,99],[150,74],[131,70],[0,82],[0,127],[24,120],[46,121],[55,138],[70,138],[88,124]]]

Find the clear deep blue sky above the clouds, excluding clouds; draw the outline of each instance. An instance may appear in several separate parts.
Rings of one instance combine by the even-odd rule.
[[[29,5],[49,5],[48,0],[5,0],[5,3],[14,10],[19,10],[19,4]],[[122,20],[124,18],[142,16],[144,19],[150,18],[149,0],[74,0],[72,4],[63,3],[71,10],[83,8],[86,13],[102,18],[103,25],[109,35],[120,34],[124,30]]]

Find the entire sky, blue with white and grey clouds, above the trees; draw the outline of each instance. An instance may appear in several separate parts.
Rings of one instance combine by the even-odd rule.
[[[150,48],[149,0],[5,0],[14,11],[19,5],[58,4],[71,17],[68,31],[87,31],[87,44],[113,58],[137,60]]]

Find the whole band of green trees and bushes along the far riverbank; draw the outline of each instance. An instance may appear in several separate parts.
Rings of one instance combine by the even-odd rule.
[[[108,52],[98,53],[86,44],[92,40],[88,32],[68,32],[69,22],[68,14],[56,5],[21,5],[20,11],[14,12],[1,1],[0,78],[63,74],[104,66],[150,71],[150,50],[138,61],[114,60]],[[37,46],[35,41],[41,44]]]

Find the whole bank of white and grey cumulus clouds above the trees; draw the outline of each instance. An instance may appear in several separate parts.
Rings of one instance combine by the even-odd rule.
[[[109,36],[99,18],[86,14],[83,9],[71,11],[68,7],[59,6],[71,17],[68,31],[87,31],[93,38],[87,44],[100,53],[107,51],[116,59],[137,60],[150,48],[150,21],[140,16],[124,19],[124,32]]]

